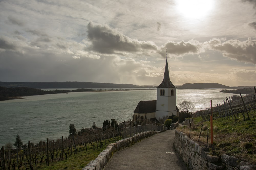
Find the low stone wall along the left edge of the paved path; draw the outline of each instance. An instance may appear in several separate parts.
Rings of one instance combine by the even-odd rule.
[[[82,170],[100,170],[105,167],[109,159],[112,157],[114,152],[117,152],[119,150],[122,150],[126,147],[129,147],[138,141],[145,139],[147,137],[150,137],[154,134],[158,133],[157,131],[148,131],[148,132],[142,132],[135,136],[132,136],[130,138],[122,139],[119,141],[116,141],[115,143],[111,143],[107,146],[105,150],[103,150],[98,157],[91,161],[89,164],[86,165]]]

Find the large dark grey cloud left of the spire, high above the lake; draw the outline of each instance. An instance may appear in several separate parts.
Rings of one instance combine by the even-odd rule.
[[[91,41],[91,49],[100,53],[138,52],[142,50],[157,50],[152,42],[131,39],[108,26],[93,25],[89,23],[88,39]]]

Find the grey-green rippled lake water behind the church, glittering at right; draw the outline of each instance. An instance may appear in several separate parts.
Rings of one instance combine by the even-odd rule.
[[[220,89],[177,89],[177,106],[187,100],[201,110],[210,107],[210,100],[216,106],[232,95],[221,93]],[[91,127],[93,122],[102,127],[106,119],[128,121],[140,100],[156,100],[156,89],[73,92],[0,101],[0,147],[14,143],[17,134],[23,144],[29,140],[37,143],[46,138],[67,137],[72,123],[78,131]]]

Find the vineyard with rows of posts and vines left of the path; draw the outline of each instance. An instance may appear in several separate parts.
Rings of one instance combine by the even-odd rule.
[[[69,137],[61,137],[58,140],[46,139],[39,143],[20,145],[16,149],[1,148],[0,169],[49,169],[57,164],[65,164],[67,159],[74,159],[75,156],[88,158],[84,162],[77,163],[77,169],[82,169],[91,160],[95,159],[98,154],[110,143],[120,139],[131,137],[140,132],[156,130],[166,130],[165,126],[153,124],[132,126],[132,121],[122,122],[110,126],[110,121],[104,121],[107,125],[103,128],[86,128],[81,129],[77,134]],[[71,124],[70,124],[71,125]],[[104,124],[103,124],[104,125]],[[95,152],[94,152],[95,151]],[[93,155],[90,157],[90,155]],[[75,162],[74,160],[73,162]],[[76,169],[60,165],[56,169]]]

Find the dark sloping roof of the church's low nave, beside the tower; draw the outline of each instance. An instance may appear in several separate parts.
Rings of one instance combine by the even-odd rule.
[[[156,112],[156,100],[140,101],[133,113]]]

